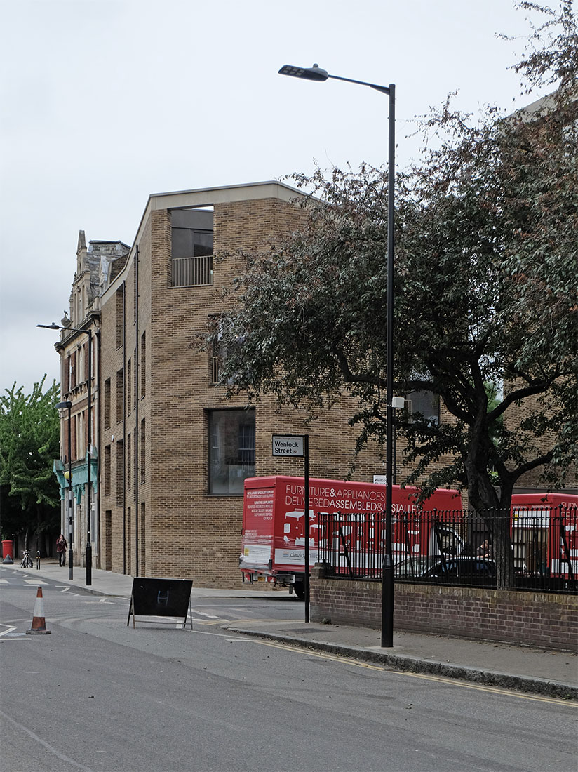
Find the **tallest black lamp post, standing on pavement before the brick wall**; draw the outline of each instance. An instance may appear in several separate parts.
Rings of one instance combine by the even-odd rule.
[[[303,80],[344,80],[369,86],[389,97],[389,134],[387,154],[387,338],[386,338],[386,435],[385,435],[385,549],[381,584],[381,645],[394,645],[394,563],[391,557],[392,485],[394,452],[394,195],[395,195],[395,84],[378,86],[364,80],[353,80],[330,75],[319,65],[296,67],[289,64],[279,69],[279,75],[289,75]]]

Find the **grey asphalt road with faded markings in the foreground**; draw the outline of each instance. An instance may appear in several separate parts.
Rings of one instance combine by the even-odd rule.
[[[283,598],[203,599],[194,629],[0,570],[2,770],[576,770],[576,706],[232,635]]]

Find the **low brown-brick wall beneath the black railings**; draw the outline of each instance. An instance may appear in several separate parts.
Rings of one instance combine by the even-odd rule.
[[[381,627],[381,584],[312,571],[309,617]],[[396,584],[394,629],[576,651],[578,597],[543,592]]]

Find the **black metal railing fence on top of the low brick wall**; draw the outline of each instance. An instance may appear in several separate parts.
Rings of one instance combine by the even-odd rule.
[[[381,579],[385,513],[319,513],[318,523],[327,577]],[[495,587],[500,563],[517,589],[578,592],[576,508],[397,512],[391,542],[396,581]]]

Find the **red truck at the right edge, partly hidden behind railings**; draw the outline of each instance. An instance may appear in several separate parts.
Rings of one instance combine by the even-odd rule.
[[[578,496],[515,493],[512,547],[521,574],[573,579],[578,574]]]

